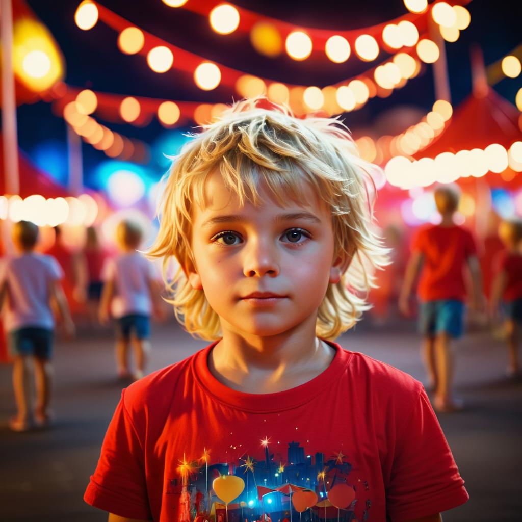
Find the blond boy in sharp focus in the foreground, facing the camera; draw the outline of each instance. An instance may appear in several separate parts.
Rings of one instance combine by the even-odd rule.
[[[365,163],[336,120],[258,102],[185,146],[150,251],[179,261],[176,316],[213,342],[124,390],[84,498],[218,522],[298,517],[300,492],[322,517],[335,481],[343,522],[440,520],[468,495],[422,385],[331,341],[366,308],[362,256],[386,264]]]

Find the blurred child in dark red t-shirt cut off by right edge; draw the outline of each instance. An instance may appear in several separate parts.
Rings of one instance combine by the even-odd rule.
[[[503,301],[504,327],[506,331],[509,364],[508,377],[518,376],[517,345],[522,324],[522,220],[503,221],[499,235],[506,250],[495,260],[495,277],[492,283],[490,311],[495,317]]]

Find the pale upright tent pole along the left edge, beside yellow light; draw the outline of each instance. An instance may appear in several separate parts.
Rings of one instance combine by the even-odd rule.
[[[20,192],[18,171],[18,134],[16,93],[13,73],[13,6],[0,0],[2,42],[2,145],[4,149],[4,189],[7,194]]]

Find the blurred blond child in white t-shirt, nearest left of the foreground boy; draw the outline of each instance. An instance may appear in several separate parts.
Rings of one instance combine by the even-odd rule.
[[[100,322],[109,321],[109,309],[116,319],[116,365],[118,376],[143,377],[150,352],[150,314],[161,315],[160,288],[154,266],[136,252],[141,243],[141,228],[122,221],[116,230],[121,254],[109,259],[103,268],[104,287],[100,300]],[[135,370],[128,363],[129,345],[134,346]]]

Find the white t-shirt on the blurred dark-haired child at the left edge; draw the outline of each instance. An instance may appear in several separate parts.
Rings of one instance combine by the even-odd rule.
[[[0,285],[7,283],[3,307],[6,331],[34,326],[54,328],[49,305],[50,285],[63,278],[62,267],[52,256],[34,252],[10,257],[0,263]]]

